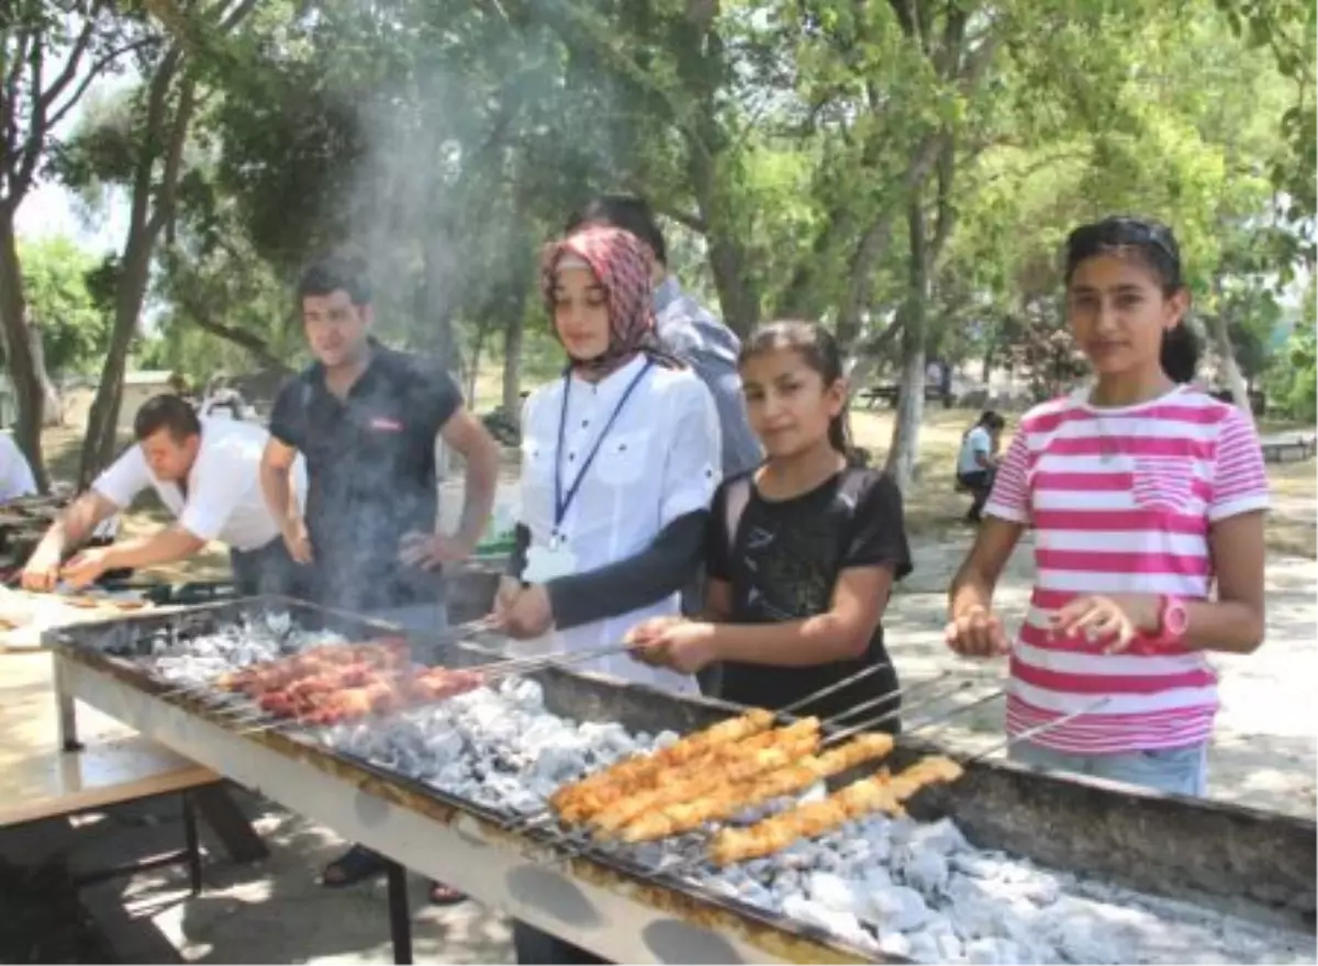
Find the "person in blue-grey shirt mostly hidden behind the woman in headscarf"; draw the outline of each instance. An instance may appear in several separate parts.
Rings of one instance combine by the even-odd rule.
[[[565,235],[585,225],[621,228],[637,236],[650,250],[654,260],[655,336],[666,352],[691,366],[714,398],[722,432],[722,474],[730,478],[758,467],[763,453],[746,416],[737,368],[741,341],[713,312],[683,291],[681,283],[668,270],[668,245],[650,204],[634,195],[600,195],[569,219]],[[700,613],[702,588],[704,581],[697,573],[683,592],[685,613]],[[717,695],[718,673],[717,664],[701,671],[701,691]]]

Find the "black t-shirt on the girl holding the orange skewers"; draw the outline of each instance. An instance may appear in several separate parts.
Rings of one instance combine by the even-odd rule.
[[[747,484],[749,498],[730,539],[729,490]],[[849,567],[891,567],[894,580],[911,572],[902,493],[887,476],[858,468],[784,501],[762,498],[747,476],[725,480],[709,515],[706,559],[709,576],[731,584],[734,623],[778,623],[826,613],[838,576]],[[865,655],[854,660],[812,667],[729,662],[724,666],[722,697],[759,708],[784,708],[878,663],[890,666],[803,709],[825,718],[898,689],[882,625]],[[861,724],[898,706],[894,700],[842,724]],[[879,727],[895,731],[898,721]]]

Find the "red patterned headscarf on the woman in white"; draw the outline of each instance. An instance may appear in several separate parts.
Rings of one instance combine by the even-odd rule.
[[[639,239],[621,228],[590,227],[546,245],[540,291],[551,316],[559,264],[564,258],[585,262],[609,299],[609,348],[596,358],[573,360],[576,366],[608,374],[641,353],[662,365],[681,365],[659,348],[651,281],[654,256]]]

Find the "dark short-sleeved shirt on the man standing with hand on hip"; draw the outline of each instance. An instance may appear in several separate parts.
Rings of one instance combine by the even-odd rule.
[[[403,567],[398,552],[403,534],[435,530],[435,436],[461,402],[447,373],[376,343],[347,398],[319,364],[279,391],[270,435],[307,461],[320,602],[378,610],[440,598],[439,573]]]

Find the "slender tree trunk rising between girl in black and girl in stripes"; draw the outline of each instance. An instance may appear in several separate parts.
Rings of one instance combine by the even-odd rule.
[[[915,192],[907,210],[911,235],[909,290],[902,326],[902,382],[898,415],[892,422],[892,445],[887,470],[903,493],[916,474],[920,447],[920,420],[924,418],[924,328],[929,306],[929,252],[925,236],[924,204]]]

